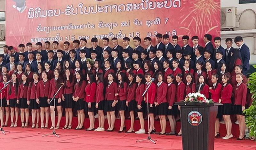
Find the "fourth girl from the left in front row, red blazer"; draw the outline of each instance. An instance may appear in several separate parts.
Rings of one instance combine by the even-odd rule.
[[[38,79],[39,79],[39,74],[37,72],[33,73],[33,80],[28,85],[27,100],[28,100],[29,109],[32,109],[31,129],[34,129],[35,127],[39,128],[38,122],[39,122],[40,109],[39,109],[39,104],[36,102],[36,89],[39,81]],[[36,120],[36,124],[35,124],[35,120]]]

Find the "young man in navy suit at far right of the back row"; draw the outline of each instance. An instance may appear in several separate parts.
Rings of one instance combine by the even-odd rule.
[[[250,60],[250,49],[248,48],[247,45],[244,44],[243,38],[241,36],[237,36],[235,38],[235,43],[236,46],[238,46],[240,53],[241,53],[241,57],[242,57],[242,62],[243,62],[243,73],[246,74],[246,71],[248,71],[250,69],[250,64],[249,64],[249,60]]]

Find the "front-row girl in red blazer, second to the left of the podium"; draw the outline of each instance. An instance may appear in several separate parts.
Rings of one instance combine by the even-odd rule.
[[[176,102],[176,85],[173,83],[174,76],[172,74],[169,74],[167,76],[167,103],[168,103],[168,109],[167,109],[167,117],[169,119],[171,132],[168,133],[168,135],[174,135],[175,134],[175,127],[176,127],[176,120],[175,116],[177,114],[177,105],[174,105]]]

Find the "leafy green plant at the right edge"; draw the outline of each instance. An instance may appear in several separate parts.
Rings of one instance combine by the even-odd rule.
[[[256,68],[256,65],[253,67]],[[256,137],[256,72],[250,75],[247,86],[252,94],[252,105],[244,110],[246,114],[245,123],[250,129],[250,136]]]

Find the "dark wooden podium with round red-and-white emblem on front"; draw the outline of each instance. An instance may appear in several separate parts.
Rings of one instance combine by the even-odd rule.
[[[221,103],[176,102],[180,105],[183,150],[214,150],[215,120]]]

